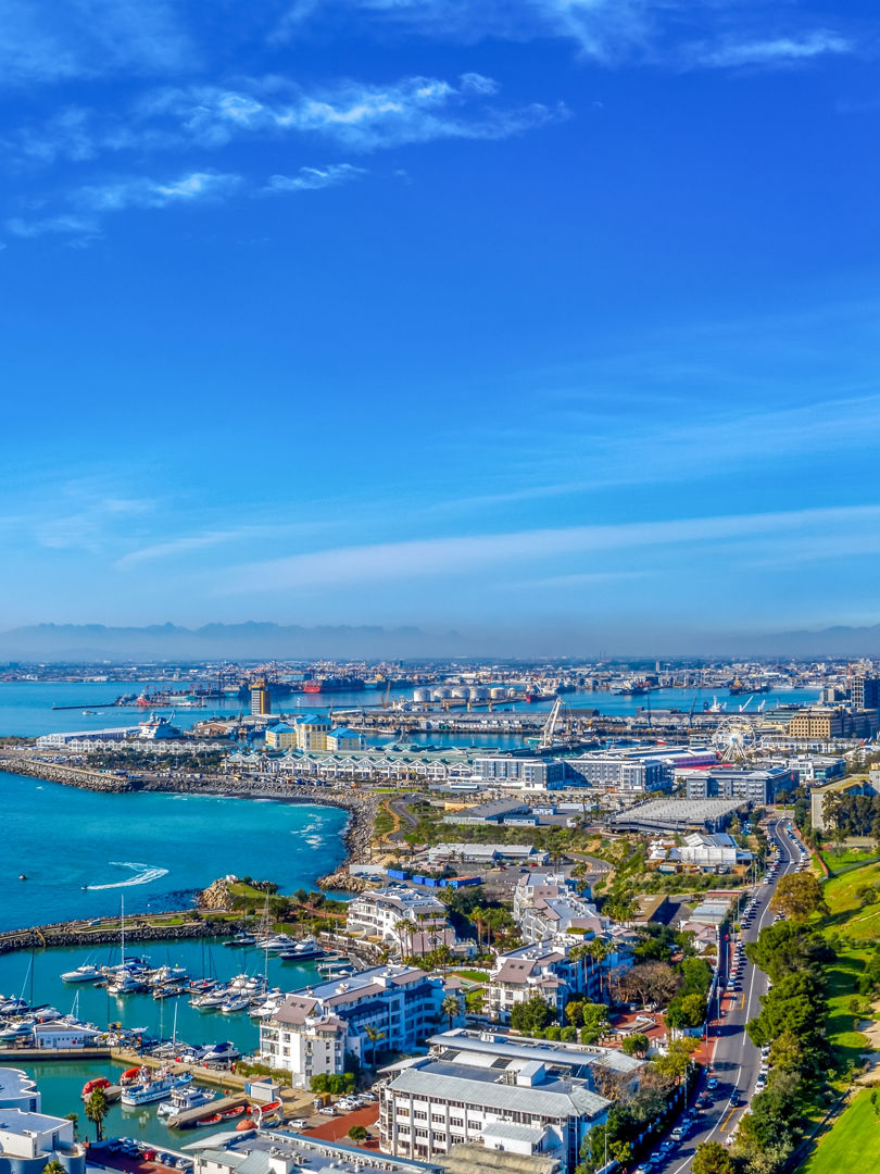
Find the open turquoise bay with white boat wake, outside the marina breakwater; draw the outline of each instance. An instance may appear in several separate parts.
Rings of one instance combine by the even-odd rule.
[[[180,909],[235,872],[282,892],[333,871],[347,812],[210,795],[106,795],[0,774],[0,929]],[[27,880],[19,880],[20,873]]]

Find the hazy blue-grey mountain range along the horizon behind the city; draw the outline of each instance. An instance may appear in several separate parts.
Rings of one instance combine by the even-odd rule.
[[[616,656],[880,656],[880,625],[832,627],[773,634],[700,635],[658,630],[645,647],[631,647],[615,633],[555,632],[523,627],[516,636],[483,632],[462,635],[418,627],[324,626],[280,623],[174,623],[116,628],[102,623],[36,623],[0,633],[0,661],[100,662],[203,660],[385,660],[451,656],[520,656],[594,659],[600,647]]]

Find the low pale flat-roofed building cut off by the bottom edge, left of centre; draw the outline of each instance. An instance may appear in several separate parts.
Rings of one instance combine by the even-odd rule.
[[[284,1129],[224,1133],[185,1147],[192,1174],[441,1174],[429,1162],[392,1158],[337,1141],[321,1141]]]

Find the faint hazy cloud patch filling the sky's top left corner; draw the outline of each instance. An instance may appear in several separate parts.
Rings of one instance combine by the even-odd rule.
[[[178,11],[169,0],[5,0],[0,85],[177,70],[195,56]]]

